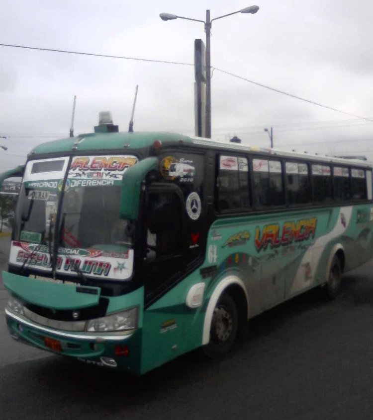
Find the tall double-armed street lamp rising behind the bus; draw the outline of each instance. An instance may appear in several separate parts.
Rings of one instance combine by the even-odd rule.
[[[206,137],[211,138],[211,52],[210,52],[210,31],[213,20],[221,19],[222,17],[231,16],[236,13],[251,13],[254,14],[259,10],[259,6],[249,6],[232,13],[223,14],[210,20],[210,10],[206,10],[206,20],[191,19],[190,17],[178,16],[171,13],[161,13],[159,16],[162,20],[186,19],[194,22],[204,23],[204,30],[206,32]]]

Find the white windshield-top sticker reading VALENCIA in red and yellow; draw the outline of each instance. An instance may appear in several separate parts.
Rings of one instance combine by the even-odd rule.
[[[137,163],[136,156],[76,156],[69,169],[69,179],[79,180],[118,180],[130,166]],[[112,185],[100,183],[73,184],[74,186]]]

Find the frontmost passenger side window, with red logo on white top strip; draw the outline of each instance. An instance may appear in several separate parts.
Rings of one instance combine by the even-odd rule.
[[[246,157],[219,156],[217,178],[219,211],[250,208],[248,169]]]

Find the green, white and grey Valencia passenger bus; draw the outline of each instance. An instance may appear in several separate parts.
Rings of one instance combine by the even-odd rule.
[[[1,175],[22,176],[2,273],[19,342],[136,375],[219,357],[250,318],[335,297],[372,257],[367,162],[97,131]]]

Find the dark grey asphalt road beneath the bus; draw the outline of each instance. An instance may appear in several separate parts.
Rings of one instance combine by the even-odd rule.
[[[372,419],[372,272],[255,318],[225,360],[193,352],[140,378],[10,340],[0,283],[0,419]]]

